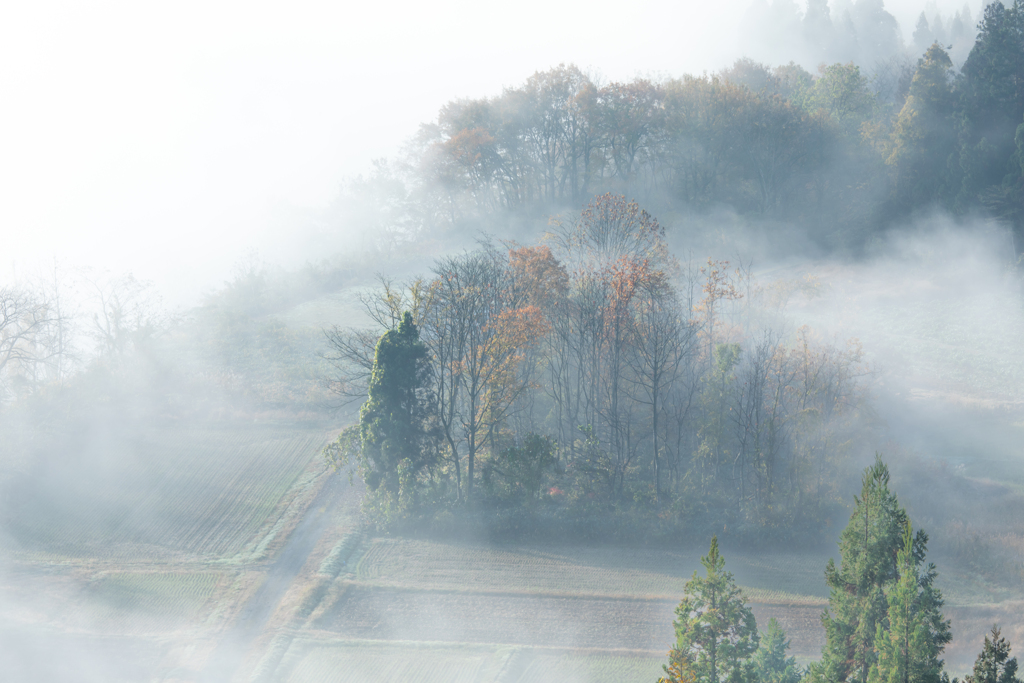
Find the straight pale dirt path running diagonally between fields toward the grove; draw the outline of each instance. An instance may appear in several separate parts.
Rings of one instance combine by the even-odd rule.
[[[266,578],[239,614],[234,626],[224,634],[214,650],[201,678],[205,683],[231,680],[252,642],[262,633],[281,598],[301,571],[309,553],[331,525],[334,508],[348,488],[348,479],[331,472],[324,487],[309,505],[278,559],[269,566]]]

